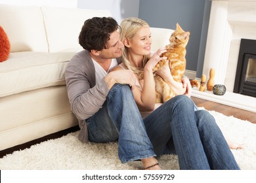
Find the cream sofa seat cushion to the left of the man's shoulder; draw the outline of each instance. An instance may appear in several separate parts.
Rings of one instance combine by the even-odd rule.
[[[0,97],[66,84],[64,72],[75,52],[16,52],[0,63]]]

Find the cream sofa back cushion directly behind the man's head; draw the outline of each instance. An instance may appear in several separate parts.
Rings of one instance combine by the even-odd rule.
[[[49,52],[81,50],[78,42],[83,23],[94,16],[111,16],[108,10],[85,10],[79,8],[41,7],[45,18],[45,29]]]

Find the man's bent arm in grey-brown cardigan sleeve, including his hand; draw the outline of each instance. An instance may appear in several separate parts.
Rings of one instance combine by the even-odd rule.
[[[81,52],[75,56],[66,69],[66,86],[72,112],[80,120],[93,116],[106,101],[114,84],[135,86],[136,77],[132,71],[113,71],[95,84],[95,69],[89,58]],[[87,59],[85,61],[85,59]]]

